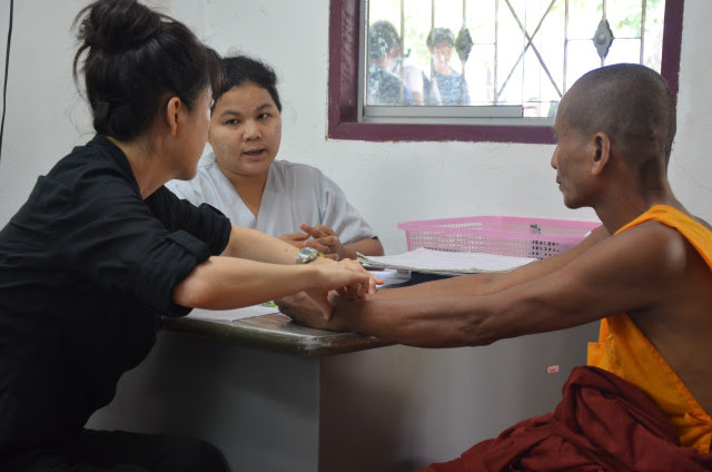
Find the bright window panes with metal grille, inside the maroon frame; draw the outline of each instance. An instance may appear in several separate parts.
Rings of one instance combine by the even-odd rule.
[[[368,0],[363,119],[541,125],[589,70],[639,62],[661,71],[664,12],[665,0]]]

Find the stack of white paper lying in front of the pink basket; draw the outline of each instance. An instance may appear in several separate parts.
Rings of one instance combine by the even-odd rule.
[[[419,247],[395,256],[367,257],[359,254],[358,260],[370,267],[406,269],[425,274],[459,275],[512,271],[536,259],[487,253],[451,253]]]

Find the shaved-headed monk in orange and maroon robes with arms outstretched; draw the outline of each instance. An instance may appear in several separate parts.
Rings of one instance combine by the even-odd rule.
[[[660,425],[646,431],[670,440],[684,456],[698,454],[699,460],[709,461],[712,228],[684,208],[668,180],[675,128],[674,98],[657,72],[639,65],[595,69],[578,79],[558,106],[557,144],[551,160],[564,204],[592,207],[603,224],[582,244],[511,273],[379,291],[360,302],[337,299],[332,319],[297,307],[283,311],[317,327],[424,347],[482,346],[602,319],[600,341],[589,346],[590,367],[577,367],[586,371],[583,378],[578,372],[564,387],[565,399],[566,389],[571,401],[591,404],[597,401],[591,400],[594,396],[615,396],[622,399],[616,407],[624,404],[626,411],[640,410],[649,399],[644,417],[650,414],[655,421],[641,420],[635,411],[633,424]],[[601,395],[602,391],[606,394]],[[570,406],[562,404],[554,416],[523,424],[495,442],[515,441],[534,429],[541,433],[542,421],[566,423],[572,417],[566,409],[582,411],[582,404]],[[599,416],[593,414],[595,409],[591,413]],[[575,425],[576,434],[585,426]],[[619,426],[609,424],[616,431]],[[649,439],[643,442],[652,444]],[[531,445],[523,446],[523,453]],[[505,450],[511,449],[500,452]],[[473,451],[428,470],[500,470],[468,465],[473,455],[482,460],[488,453],[486,448]],[[612,463],[622,460],[615,451],[604,454],[594,448],[589,452],[584,455],[609,454],[606,461]],[[540,451],[540,458],[547,453],[556,455]],[[513,461],[506,466],[520,470],[521,458]],[[637,469],[641,461],[631,459],[631,470],[642,470]],[[601,466],[627,470],[620,464]],[[701,470],[705,466],[712,462]]]

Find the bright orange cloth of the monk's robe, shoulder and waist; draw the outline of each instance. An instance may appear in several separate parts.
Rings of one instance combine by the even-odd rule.
[[[653,206],[617,233],[649,220],[678,229],[712,268],[712,233],[669,206]],[[599,342],[589,344],[587,363],[619,375],[650,395],[675,426],[681,445],[703,453],[710,451],[712,417],[626,313],[602,319]]]

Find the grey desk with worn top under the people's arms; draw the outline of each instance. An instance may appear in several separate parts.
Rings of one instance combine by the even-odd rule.
[[[551,411],[596,326],[421,350],[279,314],[167,319],[88,427],[202,437],[233,471],[412,471]]]

